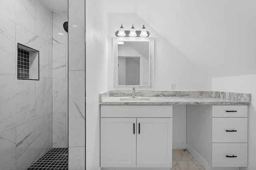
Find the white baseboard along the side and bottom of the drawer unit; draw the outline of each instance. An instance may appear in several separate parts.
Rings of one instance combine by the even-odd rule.
[[[207,162],[196,150],[186,144],[188,152],[194,156],[194,158],[204,167],[205,170],[239,170],[239,167],[211,167],[210,162]],[[247,169],[240,169],[240,170],[249,170]]]

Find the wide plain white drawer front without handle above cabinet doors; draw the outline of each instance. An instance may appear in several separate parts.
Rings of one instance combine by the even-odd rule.
[[[101,105],[100,117],[172,117],[172,106]]]

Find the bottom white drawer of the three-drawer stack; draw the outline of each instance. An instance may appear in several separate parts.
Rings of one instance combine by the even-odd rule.
[[[212,166],[247,167],[247,147],[247,143],[212,143]]]

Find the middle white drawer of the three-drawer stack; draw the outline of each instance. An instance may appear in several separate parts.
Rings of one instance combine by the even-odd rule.
[[[213,117],[213,143],[247,143],[247,117]]]

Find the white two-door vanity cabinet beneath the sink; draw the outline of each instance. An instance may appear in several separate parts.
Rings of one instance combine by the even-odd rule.
[[[101,167],[171,167],[172,106],[101,106]]]

